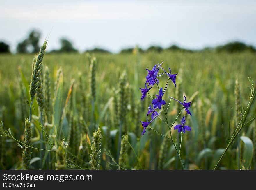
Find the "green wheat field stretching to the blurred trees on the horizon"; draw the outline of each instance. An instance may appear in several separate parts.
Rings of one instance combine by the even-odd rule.
[[[0,169],[256,169],[255,53],[45,48],[0,55]]]

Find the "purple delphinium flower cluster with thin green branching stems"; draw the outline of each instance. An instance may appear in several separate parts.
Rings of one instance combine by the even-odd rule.
[[[177,76],[178,73],[177,73],[177,74],[171,74],[171,69],[170,69],[169,67],[168,67],[168,69],[170,70],[170,73],[167,73],[167,72],[163,69],[162,64],[163,64],[163,63],[155,65],[155,66],[152,68],[152,70],[146,69],[148,73],[147,73],[147,76],[146,76],[145,88],[140,88],[141,93],[142,93],[141,101],[142,101],[142,100],[144,101],[144,99],[145,99],[145,97],[147,97],[147,95],[149,95],[149,96],[152,98],[152,102],[151,102],[152,105],[151,105],[151,104],[149,105],[149,107],[148,107],[148,112],[147,112],[147,114],[146,114],[146,120],[147,120],[147,121],[140,121],[140,122],[142,123],[142,126],[143,126],[143,131],[142,131],[141,135],[144,135],[144,134],[146,133],[147,127],[150,127],[150,124],[151,124],[157,117],[159,117],[159,115],[160,115],[161,113],[164,113],[164,115],[165,115],[165,121],[162,120],[161,118],[160,118],[160,119],[168,126],[168,129],[169,129],[169,132],[170,132],[170,138],[169,138],[169,137],[166,137],[165,135],[163,135],[163,134],[161,134],[161,133],[159,133],[159,132],[157,132],[157,131],[156,131],[156,132],[159,133],[160,135],[162,135],[162,136],[164,136],[164,137],[166,137],[166,138],[168,138],[168,139],[171,140],[171,142],[173,143],[173,145],[174,145],[174,147],[175,147],[175,149],[176,149],[176,151],[177,151],[177,153],[178,153],[180,162],[181,162],[182,167],[183,167],[183,169],[184,169],[184,165],[183,165],[182,160],[181,160],[181,158],[180,158],[180,149],[179,149],[179,151],[178,151],[177,147],[175,146],[175,142],[173,141],[171,129],[172,129],[172,127],[173,127],[173,124],[176,122],[177,118],[178,118],[179,115],[181,114],[183,108],[185,108],[185,111],[186,111],[187,114],[192,115],[191,112],[189,111],[189,107],[190,107],[191,102],[186,102],[186,97],[185,97],[185,96],[184,96],[184,102],[181,102],[181,101],[179,101],[179,100],[177,100],[177,99],[174,99],[173,97],[169,97],[169,98],[170,98],[170,101],[171,101],[171,99],[173,99],[173,100],[179,102],[179,103],[183,106],[182,109],[181,109],[181,111],[179,112],[177,118],[176,118],[175,121],[173,122],[173,124],[172,124],[172,125],[169,125],[169,124],[168,124],[168,119],[167,119],[167,115],[166,115],[166,114],[167,114],[167,111],[168,111],[168,108],[169,108],[170,103],[169,103],[167,109],[165,110],[164,105],[166,105],[166,101],[163,99],[163,96],[165,95],[166,89],[167,89],[167,87],[168,87],[168,82],[169,82],[169,80],[171,80],[171,81],[173,82],[173,84],[174,84],[174,87],[176,87],[176,76]],[[163,72],[160,73],[159,70],[162,70]],[[168,76],[168,80],[167,80],[166,85],[165,85],[164,88],[163,88],[163,87],[159,88],[159,79],[162,77],[162,75],[163,75],[164,73]],[[156,96],[155,98],[154,98],[152,95],[150,95],[150,93],[149,93],[149,91],[153,88],[153,86],[157,86],[158,91],[159,91],[159,93],[155,95],[155,96]],[[186,114],[186,115],[187,115],[187,114]],[[147,118],[148,116],[151,117],[151,120],[150,120],[150,121],[148,121],[148,118]],[[182,120],[181,120],[181,124],[176,125],[176,126],[174,127],[174,130],[178,129],[178,132],[179,132],[179,133],[181,132],[181,136],[182,136],[182,132],[185,133],[186,131],[191,131],[191,127],[185,125],[185,122],[186,122],[186,118],[185,118],[185,116],[183,116],[183,117],[182,117]],[[151,128],[151,127],[150,127],[150,128]],[[152,129],[152,128],[151,128],[151,129]],[[154,129],[152,129],[152,130],[154,130]],[[155,130],[154,130],[154,131],[155,131]],[[180,142],[180,145],[181,145],[181,142]]]

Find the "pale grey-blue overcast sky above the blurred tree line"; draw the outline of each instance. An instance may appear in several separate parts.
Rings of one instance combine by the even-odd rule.
[[[32,29],[49,34],[48,50],[60,37],[80,51],[150,45],[185,48],[240,40],[256,45],[256,1],[3,1],[0,41],[16,45]]]

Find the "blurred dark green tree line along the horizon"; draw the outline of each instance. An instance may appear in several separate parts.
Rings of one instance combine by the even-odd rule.
[[[23,41],[19,42],[16,46],[17,53],[36,53],[40,49],[39,40],[40,40],[41,33],[38,30],[31,30],[29,32],[28,37],[26,37]],[[74,48],[72,42],[62,37],[60,40],[61,47],[59,49],[51,50],[49,53],[78,53],[78,50]],[[133,47],[131,48],[124,48],[120,51],[120,53],[132,53],[134,50]],[[170,50],[170,51],[182,51],[182,52],[200,52],[200,51],[216,51],[216,52],[242,52],[242,51],[250,51],[256,52],[256,48],[252,45],[247,45],[241,41],[233,41],[229,42],[224,45],[216,46],[216,47],[205,47],[201,50],[190,50],[186,48],[181,48],[177,45],[172,45],[168,48],[162,48],[161,46],[150,46],[149,48],[143,50],[142,48],[138,47],[138,51],[141,53],[144,52],[162,52],[163,50]],[[10,46],[3,41],[0,41],[0,53],[11,53]],[[112,53],[109,50],[104,48],[93,48],[90,50],[85,50],[85,53]]]

